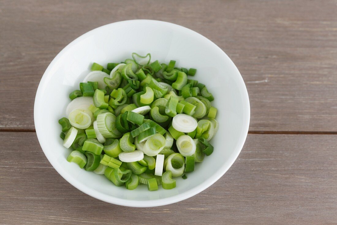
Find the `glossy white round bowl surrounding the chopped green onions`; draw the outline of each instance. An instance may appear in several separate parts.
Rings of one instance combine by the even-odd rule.
[[[197,68],[196,79],[207,85],[218,108],[219,131],[212,139],[214,152],[196,163],[188,178],[177,178],[177,187],[148,191],[146,185],[130,191],[93,172],[68,163],[69,149],[62,146],[58,120],[65,116],[69,93],[97,62],[120,62],[131,53],[145,55],[177,66]],[[50,63],[38,86],[35,129],[41,148],[56,171],[82,192],[105,202],[151,207],[187,199],[217,181],[234,163],[247,137],[250,118],[249,99],[244,81],[231,59],[212,41],[185,27],[154,20],[129,20],[91,30],[67,45]],[[52,185],[52,184],[51,184]]]

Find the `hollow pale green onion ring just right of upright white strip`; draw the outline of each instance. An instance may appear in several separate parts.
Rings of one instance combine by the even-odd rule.
[[[185,170],[185,159],[179,153],[173,153],[164,161],[165,171],[170,170],[173,177],[181,176]]]

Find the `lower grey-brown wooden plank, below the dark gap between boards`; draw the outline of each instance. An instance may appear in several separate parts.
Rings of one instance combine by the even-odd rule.
[[[0,143],[0,224],[337,222],[334,135],[248,135],[214,185],[153,208],[112,205],[75,189],[52,168],[35,133],[1,132]]]

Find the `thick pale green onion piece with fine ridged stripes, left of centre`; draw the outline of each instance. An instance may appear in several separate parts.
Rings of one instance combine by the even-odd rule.
[[[99,133],[105,138],[119,138],[122,134],[116,129],[116,116],[110,112],[97,116]]]

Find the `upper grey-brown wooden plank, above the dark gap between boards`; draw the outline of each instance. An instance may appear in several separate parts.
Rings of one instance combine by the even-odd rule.
[[[111,22],[155,19],[205,35],[233,59],[250,96],[250,131],[336,132],[336,4],[1,1],[0,129],[34,131],[38,82],[70,41]]]

